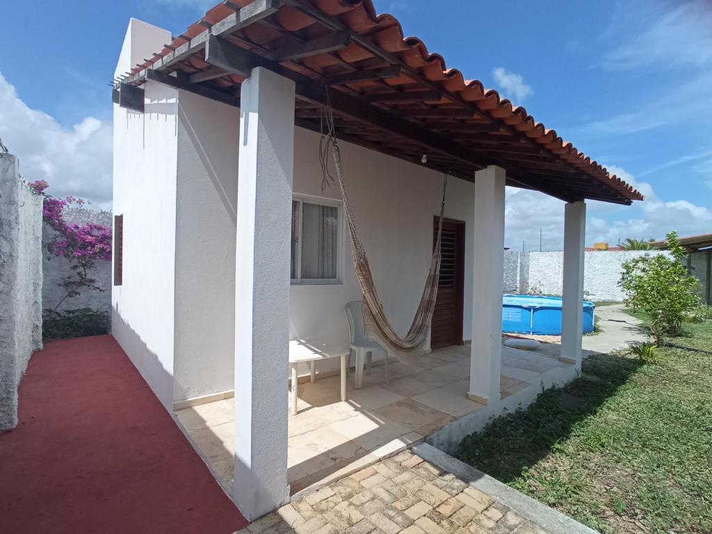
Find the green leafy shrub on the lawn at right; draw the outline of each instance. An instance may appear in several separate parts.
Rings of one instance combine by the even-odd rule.
[[[647,316],[658,346],[664,337],[679,335],[683,319],[699,303],[697,281],[684,266],[686,253],[676,232],[667,234],[667,244],[670,256],[641,256],[623,263],[618,283],[627,304]]]

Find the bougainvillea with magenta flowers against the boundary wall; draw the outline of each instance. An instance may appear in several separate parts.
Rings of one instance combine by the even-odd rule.
[[[44,180],[32,182],[29,187],[35,194],[44,197],[42,220],[54,230],[47,244],[50,258],[64,257],[71,263],[72,272],[57,284],[66,293],[54,307],[53,311],[56,312],[67,298],[79,295],[83,289],[104,290],[98,286],[92,273],[95,272],[97,261],[111,260],[111,229],[103,224],[66,223],[63,218],[64,209],[67,206],[83,206],[85,201],[74,197],[57,199],[45,194],[48,184]]]

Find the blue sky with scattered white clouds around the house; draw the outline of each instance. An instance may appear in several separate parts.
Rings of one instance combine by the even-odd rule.
[[[374,0],[407,35],[483,80],[637,184],[633,208],[590,203],[587,241],[712,231],[708,0]],[[180,33],[214,1],[9,0],[0,33],[0,137],[28,179],[110,206],[110,82],[130,16]],[[509,246],[561,244],[562,204],[508,193]]]

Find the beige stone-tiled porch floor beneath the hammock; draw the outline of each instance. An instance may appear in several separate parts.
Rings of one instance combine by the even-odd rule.
[[[555,345],[554,347],[557,347]],[[444,427],[472,414],[500,411],[467,398],[469,346],[434,350],[417,365],[389,363],[364,376],[354,388],[347,379],[347,400],[339,398],[339,377],[299,385],[298,413],[288,421],[290,493],[323,486],[387,456],[424,441]],[[562,382],[573,365],[556,355],[502,347],[501,401],[530,397],[545,382]],[[509,403],[508,403],[509,404]],[[179,409],[179,424],[230,493],[234,473],[234,399],[221,399]]]

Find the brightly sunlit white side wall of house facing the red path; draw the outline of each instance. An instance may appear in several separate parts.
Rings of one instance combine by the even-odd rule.
[[[170,33],[132,19],[127,56],[158,50]],[[138,53],[127,47],[141,43]],[[145,113],[114,105],[115,214],[123,214],[123,285],[112,287],[112,335],[164,407],[172,409],[177,189],[177,90],[149,82]]]

